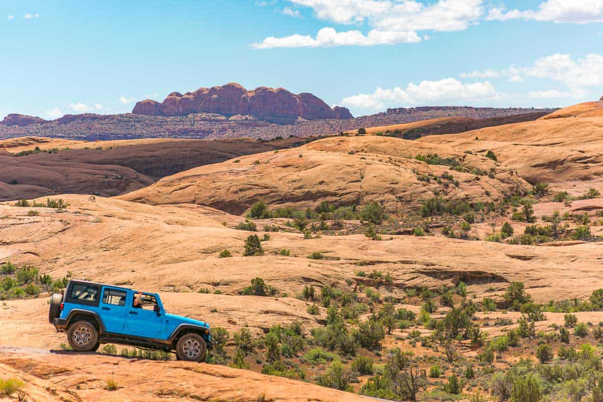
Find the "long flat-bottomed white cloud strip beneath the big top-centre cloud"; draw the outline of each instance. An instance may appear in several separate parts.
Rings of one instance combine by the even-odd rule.
[[[267,37],[260,43],[251,46],[256,49],[303,48],[318,46],[373,46],[394,45],[396,43],[420,42],[421,38],[414,32],[371,30],[367,35],[361,31],[337,32],[334,28],[323,28],[316,38],[309,35],[294,34],[286,37]]]

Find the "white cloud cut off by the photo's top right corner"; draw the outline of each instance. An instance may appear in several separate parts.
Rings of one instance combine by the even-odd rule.
[[[493,8],[487,20],[531,19],[558,23],[589,24],[603,22],[603,0],[547,0],[537,10]]]

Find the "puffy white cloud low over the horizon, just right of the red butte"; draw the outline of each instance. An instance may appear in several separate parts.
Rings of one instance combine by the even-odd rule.
[[[488,81],[464,84],[455,78],[445,78],[440,81],[421,81],[409,83],[405,89],[377,88],[373,93],[348,96],[340,103],[345,106],[373,109],[384,108],[385,104],[395,105],[426,105],[458,103],[465,101],[482,101],[501,96]]]

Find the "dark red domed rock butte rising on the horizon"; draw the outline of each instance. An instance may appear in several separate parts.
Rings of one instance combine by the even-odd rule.
[[[345,107],[330,108],[311,93],[295,95],[283,88],[259,87],[248,91],[236,83],[212,88],[200,88],[184,95],[172,92],[161,103],[151,99],[137,102],[134,115],[180,116],[189,113],[219,113],[221,115],[251,115],[274,123],[291,123],[302,118],[352,119]]]

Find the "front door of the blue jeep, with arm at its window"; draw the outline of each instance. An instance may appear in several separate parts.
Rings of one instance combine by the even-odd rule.
[[[157,296],[143,293],[140,307],[134,307],[133,301],[128,302],[128,333],[143,338],[159,338],[165,314],[157,302]]]

